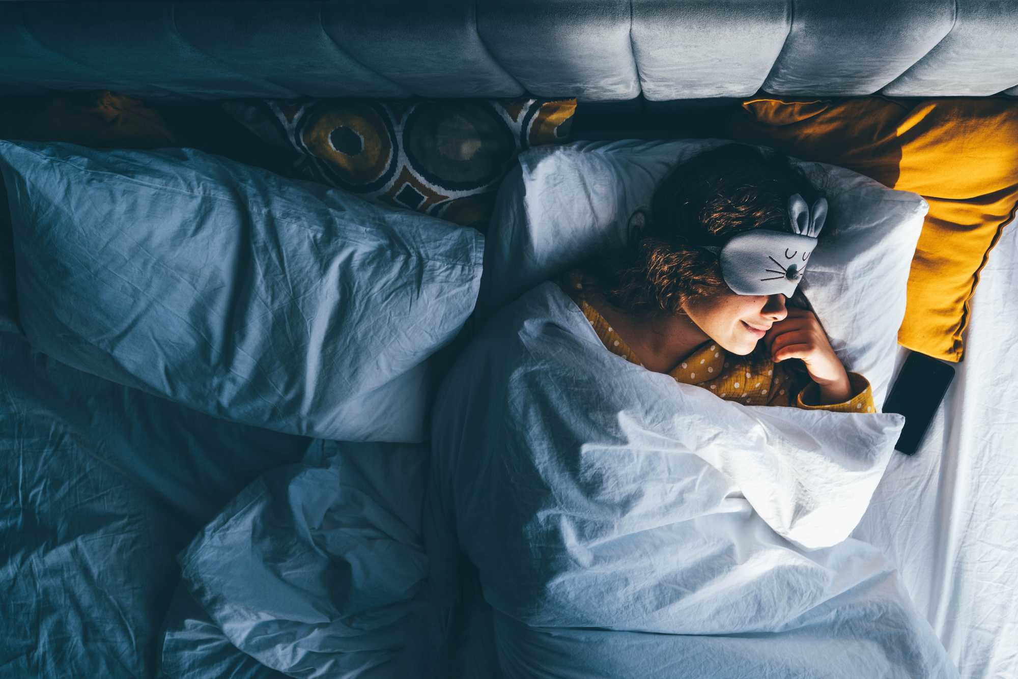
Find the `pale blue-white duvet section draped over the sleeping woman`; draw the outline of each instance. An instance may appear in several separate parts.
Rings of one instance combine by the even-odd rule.
[[[956,676],[845,541],[901,422],[722,401],[605,351],[543,284],[437,397],[433,583],[462,548],[507,676]]]

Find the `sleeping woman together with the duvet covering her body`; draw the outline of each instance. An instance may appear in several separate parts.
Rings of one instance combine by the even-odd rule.
[[[783,158],[728,147],[651,213],[446,375],[433,600],[455,600],[465,555],[510,677],[957,676],[894,567],[849,537],[902,418],[786,306],[826,202]]]

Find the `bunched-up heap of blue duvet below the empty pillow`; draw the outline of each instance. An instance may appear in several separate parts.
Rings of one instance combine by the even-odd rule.
[[[256,479],[178,558],[188,591],[164,672],[201,676],[188,660],[204,639],[291,677],[431,676],[417,675],[440,629],[419,527],[427,459],[419,446],[327,442]]]

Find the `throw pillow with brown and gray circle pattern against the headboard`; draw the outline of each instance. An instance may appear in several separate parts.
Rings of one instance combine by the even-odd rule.
[[[297,176],[484,231],[516,156],[568,140],[576,100],[242,100],[223,107],[264,140],[292,149]]]

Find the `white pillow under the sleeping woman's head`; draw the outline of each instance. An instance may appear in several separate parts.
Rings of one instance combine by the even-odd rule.
[[[477,308],[490,314],[598,249],[619,247],[630,216],[649,208],[672,167],[725,144],[731,143],[576,142],[521,154],[499,190]],[[916,193],[841,167],[793,162],[830,201],[827,226],[799,287],[839,358],[869,380],[881,406],[928,206]]]

